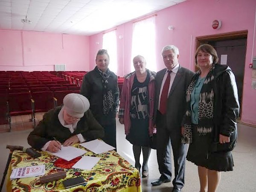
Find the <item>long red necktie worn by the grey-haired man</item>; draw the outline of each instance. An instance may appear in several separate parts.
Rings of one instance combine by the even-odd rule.
[[[168,91],[169,91],[170,80],[171,80],[170,74],[172,73],[172,71],[167,71],[167,73],[168,73],[168,75],[167,75],[166,81],[163,84],[163,90],[161,93],[160,107],[159,107],[159,111],[163,115],[166,113]]]

